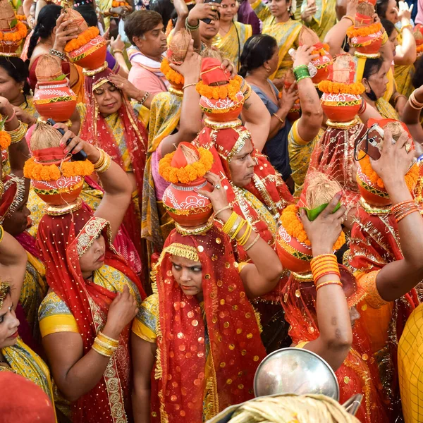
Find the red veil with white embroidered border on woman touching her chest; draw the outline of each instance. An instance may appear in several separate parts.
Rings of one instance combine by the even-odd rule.
[[[97,336],[99,321],[106,321],[109,305],[116,293],[112,293],[92,281],[82,277],[79,257],[103,233],[106,239],[105,264],[121,271],[137,286],[142,298],[145,293],[142,285],[125,263],[117,255],[110,243],[109,222],[94,217],[87,209],[79,209],[73,213],[61,216],[44,215],[39,222],[37,232],[37,246],[46,264],[46,278],[50,288],[66,302],[78,324],[78,330],[86,354]],[[80,397],[74,405],[73,422],[114,422],[116,410],[130,411],[130,356],[128,348],[129,325],[119,338],[118,360],[111,359],[109,372],[87,394]],[[109,368],[110,367],[110,368]],[[112,372],[113,371],[113,372]],[[111,379],[114,379],[111,381]],[[108,391],[111,384],[116,386],[116,392]],[[117,395],[116,395],[117,393]],[[105,411],[110,406],[111,410]]]

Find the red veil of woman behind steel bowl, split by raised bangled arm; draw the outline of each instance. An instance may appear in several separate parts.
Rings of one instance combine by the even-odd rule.
[[[364,291],[357,288],[355,278],[345,267],[340,266],[341,280],[345,293],[349,293],[348,306],[353,307],[364,297]],[[314,341],[319,337],[316,315],[316,288],[313,281],[300,281],[293,275],[283,289],[283,308],[286,321],[290,324],[289,335],[293,343]],[[353,347],[341,367],[335,372],[340,386],[340,403],[356,393],[363,395],[357,418],[363,423],[384,423],[387,416],[378,391],[379,374],[372,358],[369,341],[360,326],[360,319],[353,329]]]

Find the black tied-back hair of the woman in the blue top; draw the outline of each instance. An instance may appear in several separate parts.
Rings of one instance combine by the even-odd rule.
[[[263,66],[265,61],[271,59],[277,48],[276,39],[270,35],[258,34],[247,39],[241,54],[239,74],[245,77],[248,72]]]

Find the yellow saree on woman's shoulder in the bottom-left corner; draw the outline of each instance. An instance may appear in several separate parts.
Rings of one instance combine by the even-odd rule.
[[[51,404],[54,405],[49,367],[39,355],[34,353],[19,337],[15,345],[2,348],[1,354],[9,367],[0,366],[0,372],[12,371],[34,382],[47,393]],[[56,410],[54,412],[56,413]]]

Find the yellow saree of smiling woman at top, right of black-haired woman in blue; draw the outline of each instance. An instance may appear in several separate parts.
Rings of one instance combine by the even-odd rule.
[[[252,5],[253,10],[263,22],[263,34],[271,35],[278,42],[279,59],[276,72],[270,79],[283,78],[286,71],[293,67],[293,59],[288,54],[290,48],[298,47],[298,35],[302,24],[296,20],[289,19],[286,22],[276,23],[274,16],[271,15],[269,7],[261,0],[255,1]]]

